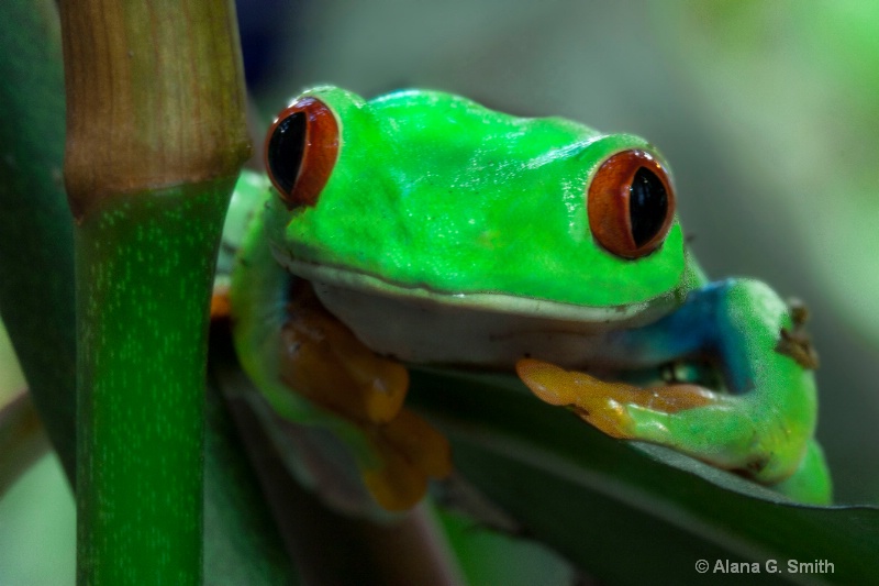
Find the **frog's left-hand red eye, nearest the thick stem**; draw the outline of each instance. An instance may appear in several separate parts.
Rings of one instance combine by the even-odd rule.
[[[266,169],[288,208],[314,206],[338,156],[336,117],[316,98],[288,106],[266,136]]]

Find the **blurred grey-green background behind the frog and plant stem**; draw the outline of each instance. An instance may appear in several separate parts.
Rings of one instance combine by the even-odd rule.
[[[312,84],[365,96],[419,86],[656,144],[709,274],[763,279],[812,310],[837,500],[877,501],[879,4],[242,0],[238,11],[264,118]],[[0,365],[2,396],[18,383]],[[0,501],[0,584],[73,579],[58,544],[73,548],[73,505],[53,466]],[[60,574],[41,582],[34,567]]]

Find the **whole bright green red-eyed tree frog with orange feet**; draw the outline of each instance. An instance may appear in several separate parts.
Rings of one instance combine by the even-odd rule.
[[[614,438],[830,500],[804,311],[708,281],[649,143],[438,91],[318,87],[265,152],[224,236],[242,365],[282,418],[347,438],[385,508],[452,467],[404,407],[407,364],[514,372]]]

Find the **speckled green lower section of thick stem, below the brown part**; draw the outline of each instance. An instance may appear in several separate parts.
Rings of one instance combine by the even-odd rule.
[[[207,307],[231,189],[116,197],[77,226],[81,583],[201,581]]]

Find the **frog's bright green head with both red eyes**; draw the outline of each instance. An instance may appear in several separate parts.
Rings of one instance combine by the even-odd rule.
[[[281,112],[266,157],[275,255],[319,292],[622,327],[688,288],[668,167],[631,134],[319,87]]]

